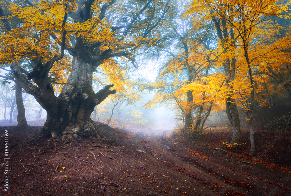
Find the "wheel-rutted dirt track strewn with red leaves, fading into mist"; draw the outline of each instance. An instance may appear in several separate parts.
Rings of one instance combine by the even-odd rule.
[[[199,184],[208,186],[209,190],[219,195],[266,195],[262,188],[265,184],[260,179],[233,172],[211,161],[193,157],[171,145],[168,131],[155,130],[141,140],[143,148],[153,157],[173,170],[189,176]],[[249,180],[247,180],[249,179]]]

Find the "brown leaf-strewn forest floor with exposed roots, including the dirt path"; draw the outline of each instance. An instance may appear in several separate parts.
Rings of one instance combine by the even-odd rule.
[[[223,127],[193,141],[171,127],[125,131],[100,123],[106,140],[67,143],[27,136],[39,129],[0,129],[1,156],[8,130],[10,157],[9,193],[2,191],[1,164],[0,195],[291,195],[290,180],[279,184],[290,179],[290,132],[280,132],[282,137],[268,145],[277,132],[256,131],[256,152],[267,152],[251,158],[247,130],[242,132],[246,145],[233,152],[222,147],[231,139],[231,130]]]

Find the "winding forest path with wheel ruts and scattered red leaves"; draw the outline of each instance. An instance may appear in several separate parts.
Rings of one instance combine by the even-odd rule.
[[[174,144],[170,130],[171,126],[153,128],[150,133],[141,131],[133,137],[155,161],[164,163],[168,173],[178,171],[179,175],[193,180],[189,187],[200,189],[203,195],[267,195],[267,189],[284,192],[283,188],[276,186],[276,183],[267,183],[266,179],[242,175],[215,162],[191,156],[183,145]]]

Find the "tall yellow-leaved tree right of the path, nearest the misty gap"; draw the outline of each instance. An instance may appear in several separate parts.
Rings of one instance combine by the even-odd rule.
[[[143,85],[147,90],[156,91],[154,99],[147,104],[174,100],[175,105],[183,115],[185,138],[195,138],[203,129],[210,115],[213,102],[209,102],[208,94],[195,88],[192,83],[207,82],[214,65],[211,59],[210,45],[215,45],[211,35],[211,23],[196,28],[199,18],[186,18],[187,1],[176,4],[175,16],[171,25],[165,26],[162,39],[165,42],[161,48],[167,62],[159,70],[159,77],[154,84]],[[216,58],[212,55],[212,57]],[[193,88],[192,88],[193,87]]]

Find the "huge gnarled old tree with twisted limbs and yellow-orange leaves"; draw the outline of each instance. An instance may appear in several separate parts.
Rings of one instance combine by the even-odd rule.
[[[114,58],[128,60],[137,68],[134,55],[159,44],[155,28],[160,26],[170,9],[169,2],[147,1],[41,1],[29,6],[11,4],[12,16],[3,17],[6,32],[1,35],[1,63],[10,64],[17,82],[47,111],[43,136],[58,136],[64,130],[79,136],[102,137],[90,118],[94,107],[116,93],[113,84],[93,91],[93,73],[100,67],[109,74],[119,74],[130,66],[117,66]],[[21,20],[11,28],[9,20]],[[58,97],[52,77],[55,66],[72,63]],[[25,58],[31,70],[22,69]],[[59,69],[54,69],[54,71]]]

